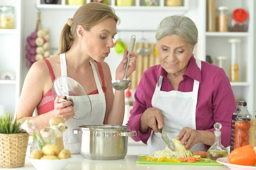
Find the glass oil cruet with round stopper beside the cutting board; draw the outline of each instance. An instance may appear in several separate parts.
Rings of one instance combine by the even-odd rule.
[[[228,153],[226,148],[221,144],[221,127],[222,125],[216,122],[213,125],[214,131],[214,144],[208,149],[207,157],[212,161],[216,161],[217,158],[227,157]]]

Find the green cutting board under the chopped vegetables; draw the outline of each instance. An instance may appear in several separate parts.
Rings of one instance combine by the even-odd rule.
[[[210,162],[201,162],[201,161],[196,161],[196,162],[158,162],[158,161],[147,161],[142,158],[142,156],[138,156],[137,164],[168,164],[168,165],[210,165],[210,166],[223,166],[223,164],[220,164],[216,161],[210,161]]]

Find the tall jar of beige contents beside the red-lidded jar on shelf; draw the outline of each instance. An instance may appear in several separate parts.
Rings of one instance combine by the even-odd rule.
[[[218,32],[227,32],[228,30],[228,8],[226,6],[218,7],[217,25]]]

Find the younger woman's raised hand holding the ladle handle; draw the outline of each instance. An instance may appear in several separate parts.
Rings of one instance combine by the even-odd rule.
[[[122,80],[124,77],[127,52],[128,52],[127,49],[125,49],[122,61],[116,69],[116,80]],[[135,54],[135,52],[130,52],[130,55],[131,55],[131,58],[130,58],[126,78],[128,78],[131,75],[131,73],[136,70],[137,55]]]

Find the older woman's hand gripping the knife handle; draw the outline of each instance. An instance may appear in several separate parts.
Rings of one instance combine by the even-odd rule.
[[[155,107],[150,107],[146,109],[143,115],[141,116],[140,129],[142,131],[146,131],[146,129],[148,130],[148,127],[151,127],[154,130],[154,132],[157,133],[157,123],[158,129],[162,129],[163,114],[159,109]]]

